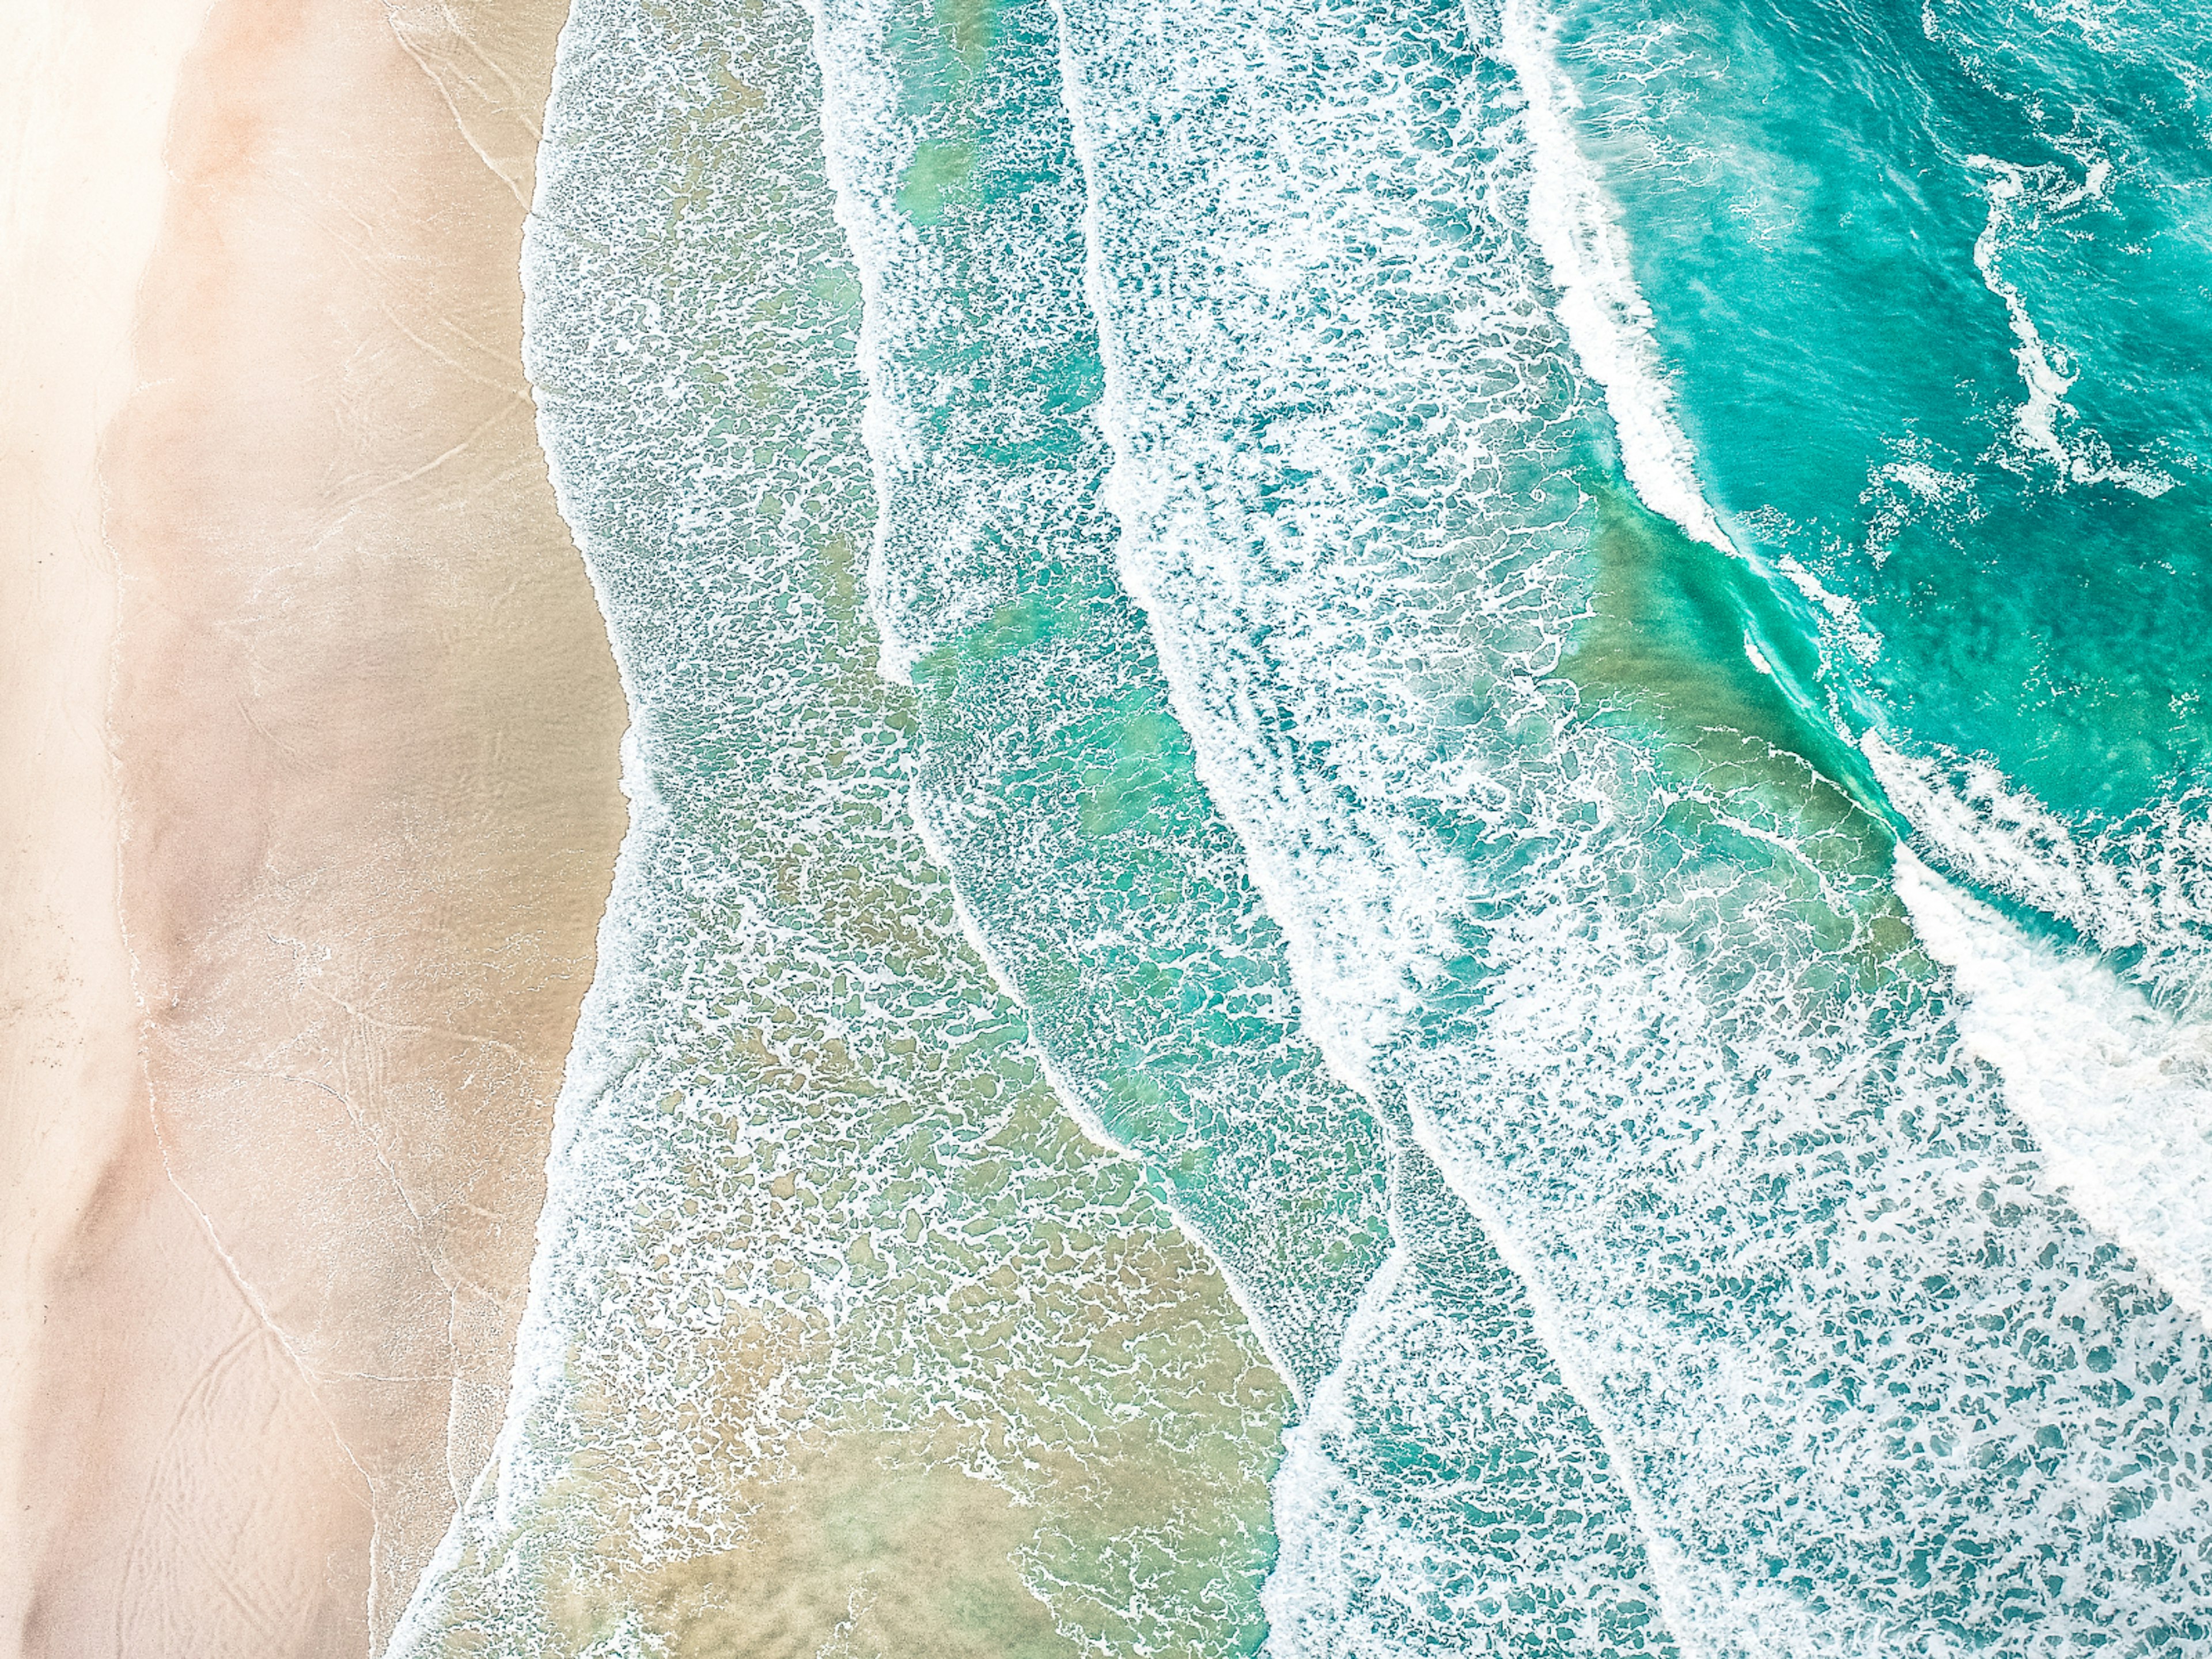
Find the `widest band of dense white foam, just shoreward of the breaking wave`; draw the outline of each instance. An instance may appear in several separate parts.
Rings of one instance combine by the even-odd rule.
[[[2022,1652],[2150,1639],[2201,1595],[2201,1495],[2161,1491],[2163,1568],[2070,1506],[2132,1433],[2199,1455],[2199,1402],[2146,1391],[2203,1332],[2104,1265],[1949,1004],[1880,967],[1878,872],[1756,792],[1686,818],[1697,785],[1546,677],[1588,522],[1540,95],[1482,82],[1480,11],[1475,42],[1358,4],[1064,18],[1124,580],[1316,1037],[1528,1285],[1674,1637],[1927,1655],[2035,1606]]]

